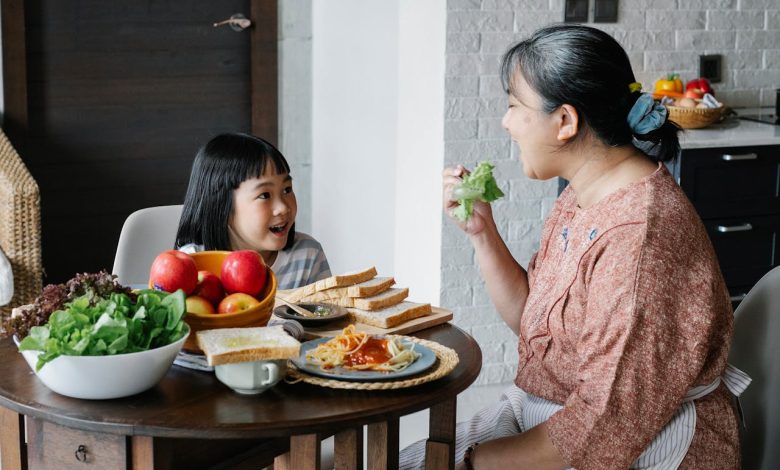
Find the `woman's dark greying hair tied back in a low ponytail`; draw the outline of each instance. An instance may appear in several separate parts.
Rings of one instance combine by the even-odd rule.
[[[626,118],[639,98],[629,85],[636,81],[626,51],[609,34],[583,25],[542,28],[512,46],[501,64],[501,83],[514,91],[520,72],[552,112],[573,106],[580,120],[607,145],[634,144],[655,161],[669,161],[680,152],[680,128],[669,121],[644,135],[634,134]]]

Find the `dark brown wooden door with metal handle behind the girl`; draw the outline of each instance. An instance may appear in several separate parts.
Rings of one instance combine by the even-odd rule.
[[[4,126],[41,190],[46,282],[111,270],[198,147],[277,134],[275,0],[2,0]],[[215,22],[242,13],[244,31]]]

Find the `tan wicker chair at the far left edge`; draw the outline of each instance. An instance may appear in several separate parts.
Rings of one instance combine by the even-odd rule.
[[[41,197],[38,184],[0,130],[0,247],[11,264],[14,295],[0,307],[0,319],[40,294]]]

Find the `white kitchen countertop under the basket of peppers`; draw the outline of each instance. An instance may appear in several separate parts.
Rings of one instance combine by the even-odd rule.
[[[741,115],[774,113],[770,108],[735,108],[734,111]],[[686,129],[680,133],[680,145],[684,149],[780,145],[780,126],[732,117],[704,129]]]

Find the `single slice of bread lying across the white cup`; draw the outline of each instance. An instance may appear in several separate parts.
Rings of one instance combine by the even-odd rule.
[[[198,346],[210,366],[298,357],[301,343],[281,325],[198,331]]]

